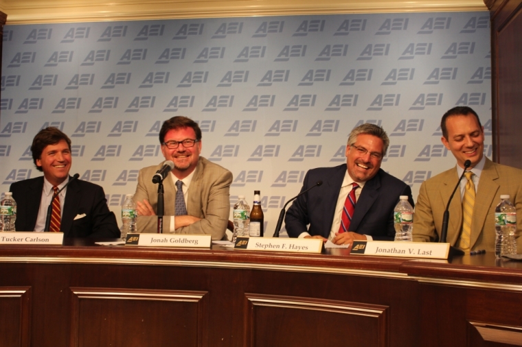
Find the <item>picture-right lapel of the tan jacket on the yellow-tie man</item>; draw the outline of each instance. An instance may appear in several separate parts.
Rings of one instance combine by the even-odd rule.
[[[482,169],[480,174],[479,187],[477,189],[477,197],[479,197],[479,199],[475,199],[475,206],[473,206],[470,247],[475,245],[481,230],[484,228],[486,215],[488,215],[488,210],[499,190],[499,184],[495,181],[498,178],[499,174],[497,173],[495,165],[493,165],[491,160],[486,158],[486,163],[484,164],[484,169]]]

